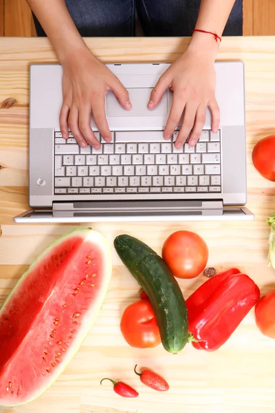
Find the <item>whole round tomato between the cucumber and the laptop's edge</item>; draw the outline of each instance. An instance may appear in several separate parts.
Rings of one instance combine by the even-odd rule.
[[[206,268],[206,242],[190,231],[177,231],[164,242],[162,257],[175,277],[195,278]]]

